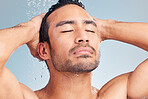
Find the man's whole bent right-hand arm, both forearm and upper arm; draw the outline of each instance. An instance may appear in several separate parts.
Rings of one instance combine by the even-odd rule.
[[[148,23],[96,20],[102,40],[114,39],[148,51]],[[129,76],[127,94],[131,99],[148,98],[148,59],[142,62]]]

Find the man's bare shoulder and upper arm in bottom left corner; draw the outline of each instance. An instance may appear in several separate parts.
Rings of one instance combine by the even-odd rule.
[[[0,71],[0,99],[38,99],[27,86],[19,83],[6,67]]]

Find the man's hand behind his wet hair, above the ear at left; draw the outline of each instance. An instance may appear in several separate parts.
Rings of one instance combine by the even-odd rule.
[[[39,57],[37,53],[37,45],[39,43],[39,31],[40,31],[42,19],[44,16],[45,16],[45,13],[38,15],[32,18],[29,22],[27,22],[28,24],[30,24],[30,26],[34,27],[34,33],[33,33],[32,39],[27,43],[27,46],[29,47],[31,54],[40,60],[42,59]]]

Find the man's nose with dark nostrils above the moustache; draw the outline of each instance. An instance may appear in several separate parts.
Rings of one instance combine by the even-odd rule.
[[[75,38],[75,43],[89,43],[88,35],[85,32],[78,32]]]

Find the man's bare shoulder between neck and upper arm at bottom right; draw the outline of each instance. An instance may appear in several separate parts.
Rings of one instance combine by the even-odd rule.
[[[122,74],[106,83],[98,92],[99,99],[127,99],[127,82],[130,73]]]

